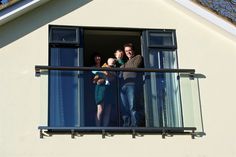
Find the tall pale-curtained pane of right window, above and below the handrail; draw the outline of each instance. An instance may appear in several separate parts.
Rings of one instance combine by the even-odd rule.
[[[149,49],[148,66],[157,69],[177,68],[176,51]],[[152,127],[181,127],[182,112],[179,82],[175,73],[146,73],[148,124]],[[149,96],[150,95],[150,96]]]

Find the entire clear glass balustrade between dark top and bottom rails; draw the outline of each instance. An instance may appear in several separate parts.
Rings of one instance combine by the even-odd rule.
[[[101,73],[104,71],[98,70]],[[127,72],[110,71],[111,78],[104,79],[104,119],[97,124],[95,90],[98,83],[94,70],[41,70],[41,122],[49,127],[122,127],[123,83]],[[179,77],[174,72],[129,72],[140,80],[137,114],[139,126],[146,128],[196,127],[203,131],[197,79]],[[102,76],[99,76],[102,77]],[[181,88],[180,88],[181,87]],[[110,117],[105,117],[105,112]],[[106,119],[108,118],[108,119]]]

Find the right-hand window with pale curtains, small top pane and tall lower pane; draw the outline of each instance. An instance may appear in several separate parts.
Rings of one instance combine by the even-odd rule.
[[[144,54],[146,66],[157,69],[177,69],[176,38],[174,30],[146,31],[147,50]],[[147,74],[146,108],[151,127],[182,127],[181,102],[179,94],[178,73]],[[149,105],[147,105],[149,104]]]

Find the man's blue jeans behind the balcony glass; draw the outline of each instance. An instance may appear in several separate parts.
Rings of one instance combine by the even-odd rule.
[[[124,127],[138,126],[138,113],[137,113],[137,89],[135,84],[123,85],[121,88],[121,114]]]

